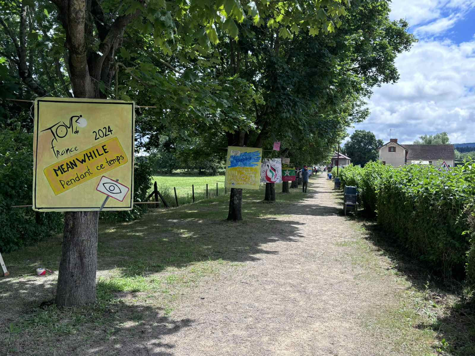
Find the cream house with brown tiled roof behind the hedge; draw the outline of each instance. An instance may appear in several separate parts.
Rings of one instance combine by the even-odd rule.
[[[406,164],[432,164],[440,167],[443,162],[449,167],[455,165],[454,145],[401,145],[398,139],[380,147],[380,160],[391,166]]]

